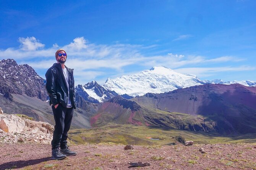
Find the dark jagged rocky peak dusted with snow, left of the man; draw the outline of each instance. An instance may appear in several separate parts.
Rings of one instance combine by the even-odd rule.
[[[43,81],[28,64],[18,65],[13,59],[0,61],[0,93],[10,100],[11,93],[14,93],[46,101],[48,94]]]

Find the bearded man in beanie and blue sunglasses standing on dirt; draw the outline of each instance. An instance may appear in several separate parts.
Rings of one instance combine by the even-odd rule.
[[[64,159],[66,156],[76,155],[76,152],[70,151],[67,146],[68,130],[76,106],[73,69],[65,66],[66,57],[65,50],[57,50],[55,53],[57,63],[54,63],[45,74],[46,90],[55,120],[52,159]]]

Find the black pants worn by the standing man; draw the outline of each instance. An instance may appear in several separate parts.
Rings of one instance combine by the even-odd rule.
[[[55,109],[52,106],[53,116],[55,120],[55,126],[52,137],[52,149],[67,147],[68,130],[70,129],[72,117],[73,117],[73,107],[65,108],[62,104],[59,104]]]

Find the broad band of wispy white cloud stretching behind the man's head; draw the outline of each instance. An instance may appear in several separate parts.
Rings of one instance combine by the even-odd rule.
[[[166,55],[143,55],[143,50],[155,48],[157,45],[132,45],[132,44],[94,44],[89,43],[84,37],[78,37],[66,45],[60,47],[57,43],[52,47],[45,48],[35,37],[19,38],[21,43],[19,48],[0,49],[0,58],[13,58],[21,64],[29,64],[34,69],[47,70],[55,60],[55,51],[63,48],[68,54],[67,66],[75,69],[76,84],[84,84],[88,81],[100,77],[103,80],[110,75],[124,75],[127,66],[166,66],[177,71],[195,74],[197,76],[206,76],[220,71],[245,71],[253,70],[254,67],[201,67],[202,64],[211,66],[213,63],[230,64],[231,62],[241,62],[245,59],[235,56],[220,56],[216,58],[207,58],[205,56],[185,56],[182,54],[167,53],[167,51],[157,51],[167,53]],[[157,53],[153,50],[152,53]],[[151,54],[152,54],[151,53]],[[190,68],[181,68],[187,67]],[[102,72],[102,70],[107,70]],[[240,69],[240,70],[239,70]],[[138,69],[137,69],[138,70]],[[129,70],[131,72],[131,70]],[[113,77],[112,77],[113,78]],[[85,82],[86,81],[86,82]],[[83,83],[84,82],[84,83]]]

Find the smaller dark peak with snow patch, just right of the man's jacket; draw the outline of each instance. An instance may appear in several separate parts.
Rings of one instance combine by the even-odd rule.
[[[102,103],[118,95],[115,91],[106,90],[96,81],[89,82],[84,86],[77,85],[75,91],[79,96],[91,103]]]

